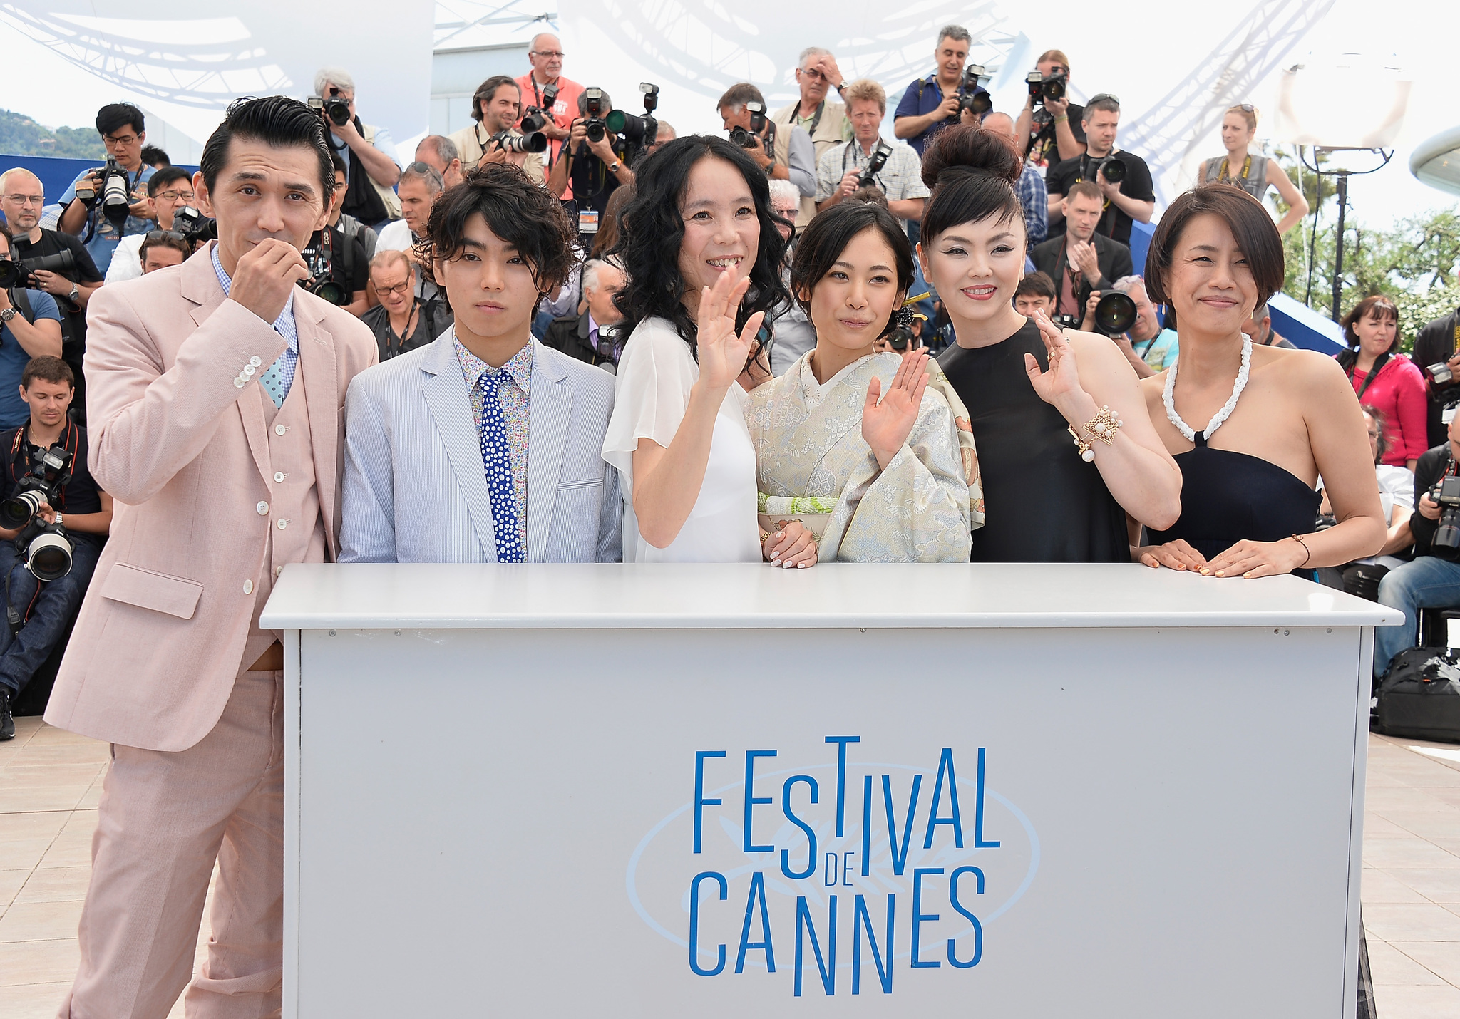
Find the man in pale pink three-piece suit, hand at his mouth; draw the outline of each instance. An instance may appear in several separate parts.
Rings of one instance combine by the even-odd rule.
[[[239,99],[194,190],[218,241],[98,291],[91,469],[117,504],[47,721],[112,743],[61,1016],[280,1009],[283,648],[258,628],[291,562],[334,559],[345,390],[375,362],[355,317],[299,289],[330,207],[323,120]]]

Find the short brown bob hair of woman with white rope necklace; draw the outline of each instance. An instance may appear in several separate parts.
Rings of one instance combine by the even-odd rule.
[[[1253,282],[1257,285],[1257,307],[1267,304],[1272,295],[1282,289],[1282,237],[1263,203],[1231,184],[1203,184],[1177,196],[1171,203],[1146,253],[1146,295],[1153,304],[1171,304],[1167,273],[1171,272],[1175,248],[1187,223],[1196,216],[1206,215],[1216,216],[1232,231],[1237,250],[1247,255]]]

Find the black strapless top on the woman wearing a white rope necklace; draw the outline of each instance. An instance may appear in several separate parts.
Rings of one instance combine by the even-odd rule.
[[[1152,545],[1186,539],[1207,559],[1241,540],[1280,542],[1308,534],[1323,496],[1275,463],[1245,453],[1213,450],[1206,432],[1196,448],[1175,455],[1181,469],[1181,517]]]

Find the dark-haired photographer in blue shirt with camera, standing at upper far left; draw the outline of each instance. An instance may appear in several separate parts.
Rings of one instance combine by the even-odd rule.
[[[107,149],[107,165],[83,171],[61,196],[57,228],[79,237],[98,273],[111,264],[111,253],[127,234],[152,226],[152,206],[142,185],[155,172],[142,159],[146,118],[130,102],[112,102],[96,111],[96,133]]]

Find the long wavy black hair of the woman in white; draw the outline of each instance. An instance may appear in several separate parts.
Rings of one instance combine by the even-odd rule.
[[[787,304],[790,295],[781,282],[781,260],[785,241],[777,225],[781,219],[771,207],[771,187],[765,171],[752,162],[745,149],[712,134],[686,134],[666,142],[653,159],[639,164],[634,180],[634,199],[619,222],[619,241],[606,254],[618,255],[628,276],[613,296],[613,305],[623,312],[623,331],[632,333],[645,318],[664,318],[689,345],[695,346],[698,326],[685,308],[685,277],[679,272],[679,248],[685,239],[685,218],[680,207],[689,171],[707,158],[724,159],[739,171],[750,188],[755,218],[761,222],[761,244],[750,266],[750,289],[736,309],[736,328],[756,311]]]

